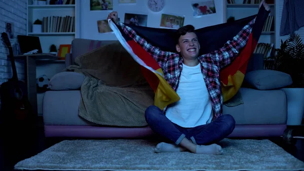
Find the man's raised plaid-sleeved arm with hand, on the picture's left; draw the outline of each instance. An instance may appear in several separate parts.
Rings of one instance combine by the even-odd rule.
[[[132,38],[137,44],[139,44],[146,52],[148,52],[162,67],[167,59],[170,57],[172,52],[162,51],[160,48],[155,47],[148,43],[145,39],[137,35],[137,33],[130,27],[126,26],[124,23],[118,21],[117,12],[111,12],[108,15],[108,19],[113,19],[124,31],[124,33]]]

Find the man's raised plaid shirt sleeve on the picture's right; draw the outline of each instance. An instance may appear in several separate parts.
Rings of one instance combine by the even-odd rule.
[[[231,41],[227,41],[219,50],[206,54],[206,56],[210,57],[220,69],[229,65],[245,47],[254,22],[255,19],[251,20]]]

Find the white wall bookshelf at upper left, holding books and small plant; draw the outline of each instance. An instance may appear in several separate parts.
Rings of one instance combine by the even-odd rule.
[[[61,44],[71,44],[73,39],[79,38],[80,27],[78,23],[80,10],[78,9],[78,3],[80,3],[80,0],[67,0],[63,2],[66,4],[33,5],[33,1],[28,0],[26,32],[28,36],[39,37],[43,53],[48,53],[52,44],[56,45],[58,50]],[[58,21],[60,17],[62,19]],[[63,20],[64,17],[66,17],[66,21]],[[43,22],[41,32],[33,31],[33,23],[36,19]],[[63,23],[61,30],[59,30],[59,27],[56,30],[56,25],[59,26],[60,22]],[[49,28],[46,30],[44,25],[48,25]],[[62,28],[64,26],[65,30]],[[69,29],[69,27],[71,28]]]

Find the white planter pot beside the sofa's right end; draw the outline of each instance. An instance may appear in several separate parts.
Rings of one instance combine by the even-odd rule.
[[[301,125],[304,114],[304,88],[282,88],[287,98],[287,125]]]

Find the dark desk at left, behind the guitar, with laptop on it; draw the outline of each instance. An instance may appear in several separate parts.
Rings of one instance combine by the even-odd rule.
[[[15,59],[25,60],[25,80],[27,87],[27,95],[30,104],[33,107],[33,112],[37,115],[37,87],[36,87],[36,62],[65,62],[65,60],[58,60],[58,56],[43,53],[43,54],[32,54],[32,55],[18,55]]]

